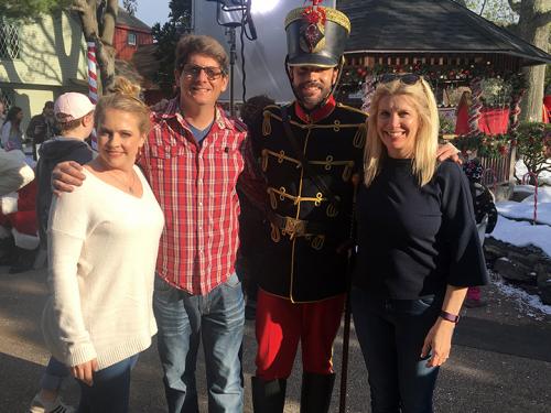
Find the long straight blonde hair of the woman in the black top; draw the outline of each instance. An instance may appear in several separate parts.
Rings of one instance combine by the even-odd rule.
[[[382,98],[388,96],[408,96],[419,116],[419,129],[413,149],[413,173],[419,185],[428,184],[436,169],[439,145],[439,111],[430,85],[421,77],[413,85],[407,85],[399,78],[379,84],[371,100],[368,118],[367,143],[364,152],[364,183],[369,186],[379,173],[387,150],[377,133],[377,113]]]

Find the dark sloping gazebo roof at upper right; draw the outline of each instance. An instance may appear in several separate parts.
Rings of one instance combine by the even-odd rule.
[[[346,54],[496,54],[520,65],[551,55],[452,0],[337,0],[352,33]]]

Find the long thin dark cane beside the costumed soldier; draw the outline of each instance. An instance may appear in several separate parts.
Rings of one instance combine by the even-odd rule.
[[[348,381],[348,348],[350,340],[350,286],[352,286],[352,272],[354,270],[354,261],[356,258],[356,194],[358,193],[358,185],[360,177],[354,174],[352,183],[354,185],[354,195],[352,204],[352,221],[350,221],[350,244],[348,246],[348,260],[346,264],[346,301],[345,301],[345,325],[343,330],[343,361],[341,365],[341,399],[338,402],[338,412],[346,412],[346,384]]]

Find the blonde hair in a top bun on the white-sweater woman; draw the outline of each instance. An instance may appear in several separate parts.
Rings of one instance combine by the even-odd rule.
[[[141,133],[148,134],[151,129],[150,109],[140,100],[141,88],[126,77],[115,77],[111,94],[102,96],[96,105],[96,126],[101,124],[107,109],[117,109],[134,113],[138,117],[138,128]]]

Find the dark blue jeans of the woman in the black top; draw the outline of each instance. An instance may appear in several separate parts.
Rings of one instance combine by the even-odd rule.
[[[421,359],[442,298],[386,300],[352,291],[354,326],[367,366],[374,413],[432,413],[437,368]]]

